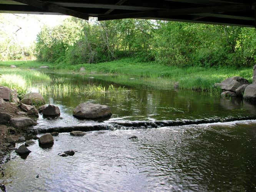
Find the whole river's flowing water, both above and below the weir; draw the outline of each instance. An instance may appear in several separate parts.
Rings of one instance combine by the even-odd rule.
[[[86,84],[123,86],[104,77],[62,76],[62,81],[80,88]],[[48,132],[58,127],[61,133],[49,148],[36,141],[28,147],[32,152],[27,158],[11,152],[11,161],[2,165],[2,189],[256,190],[254,103],[168,87],[126,89],[116,93],[44,92],[47,103],[59,106],[61,116],[50,120],[40,116],[34,129]],[[113,116],[100,121],[76,119],[72,111],[81,102],[106,104]],[[70,136],[68,131],[76,129],[90,131],[82,137]],[[58,155],[67,150],[75,150],[75,155]]]

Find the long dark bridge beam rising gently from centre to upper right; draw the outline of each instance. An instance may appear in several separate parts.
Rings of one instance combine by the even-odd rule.
[[[125,13],[116,15],[101,15],[98,20],[113,20],[124,18],[142,18],[142,17],[165,17],[171,15],[186,15],[195,13],[219,13],[219,12],[240,12],[251,11],[250,5],[225,5],[215,7],[198,7],[198,8],[182,8],[182,9],[169,9],[159,11],[147,11],[137,13]]]

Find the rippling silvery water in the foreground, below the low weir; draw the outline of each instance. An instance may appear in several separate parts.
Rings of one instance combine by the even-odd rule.
[[[51,148],[36,141],[27,159],[3,165],[3,184],[7,191],[253,190],[256,123],[245,122],[60,133]],[[77,152],[58,156],[67,150]]]

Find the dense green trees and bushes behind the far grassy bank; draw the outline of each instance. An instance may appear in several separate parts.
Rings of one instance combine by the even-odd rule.
[[[235,26],[68,18],[54,28],[44,27],[36,47],[39,61],[71,65],[123,56],[181,67],[256,64],[256,31]]]

